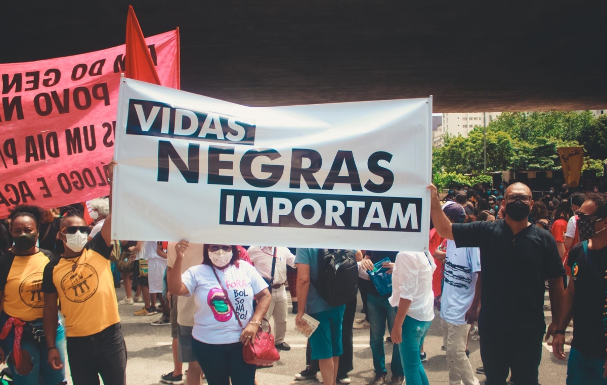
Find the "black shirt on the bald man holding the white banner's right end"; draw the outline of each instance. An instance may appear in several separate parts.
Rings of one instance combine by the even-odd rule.
[[[544,333],[544,280],[565,275],[551,233],[537,226],[514,235],[506,221],[453,224],[457,247],[480,247],[479,326]]]

